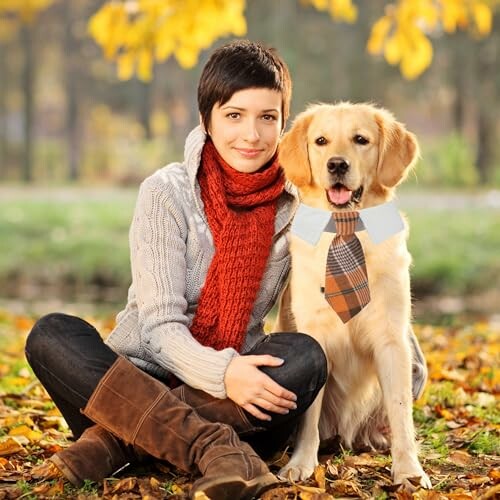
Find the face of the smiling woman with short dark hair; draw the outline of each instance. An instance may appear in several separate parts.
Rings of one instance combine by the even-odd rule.
[[[212,108],[208,133],[222,158],[238,172],[256,172],[276,152],[281,101],[276,90],[249,88]]]

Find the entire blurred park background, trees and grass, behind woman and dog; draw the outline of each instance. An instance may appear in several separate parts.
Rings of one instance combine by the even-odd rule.
[[[418,294],[498,288],[499,8],[500,0],[0,0],[0,296],[26,295],[28,282],[41,283],[31,295],[106,285],[124,296],[137,186],[181,157],[198,122],[201,68],[215,46],[243,36],[288,62],[292,117],[310,102],[370,101],[418,135],[422,160],[405,190],[423,198],[403,203],[415,219]],[[480,213],[468,215],[471,203]]]

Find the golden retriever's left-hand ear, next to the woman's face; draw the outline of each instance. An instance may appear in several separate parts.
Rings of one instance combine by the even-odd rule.
[[[307,111],[298,115],[278,147],[280,165],[286,177],[299,187],[307,186],[312,181],[307,151],[307,129],[311,120],[312,114]]]

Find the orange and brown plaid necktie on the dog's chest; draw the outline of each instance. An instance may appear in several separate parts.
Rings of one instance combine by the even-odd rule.
[[[347,323],[370,302],[365,256],[354,234],[358,212],[334,212],[336,225],[326,260],[325,298]]]

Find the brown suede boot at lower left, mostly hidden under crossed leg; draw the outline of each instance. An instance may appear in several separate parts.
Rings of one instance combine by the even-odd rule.
[[[65,477],[75,486],[81,486],[85,479],[101,481],[127,464],[144,461],[147,456],[137,447],[126,445],[107,430],[94,425],[86,429],[76,443],[34,468],[32,476],[37,479]]]

